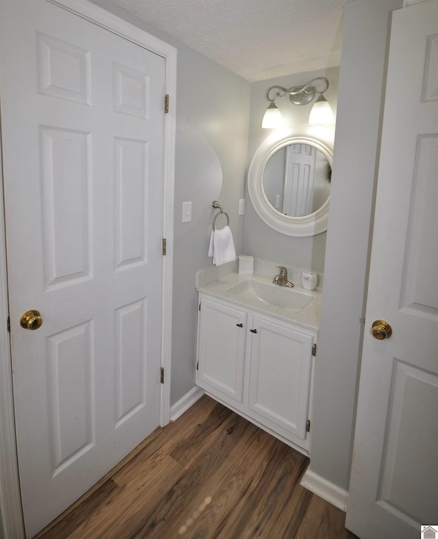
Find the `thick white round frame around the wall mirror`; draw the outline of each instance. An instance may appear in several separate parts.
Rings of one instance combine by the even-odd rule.
[[[330,197],[313,214],[292,217],[283,215],[272,207],[263,188],[263,173],[272,155],[291,144],[308,144],[321,151],[333,164],[334,131],[318,125],[297,125],[276,130],[255,151],[248,168],[248,193],[253,208],[262,221],[287,236],[315,236],[326,231],[329,219]]]

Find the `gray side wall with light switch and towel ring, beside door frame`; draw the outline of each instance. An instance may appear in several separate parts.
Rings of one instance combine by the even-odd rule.
[[[207,257],[218,199],[227,211],[237,254],[242,251],[250,84],[175,38],[118,8],[92,0],[177,48],[177,140],[170,403],[194,387],[196,356],[195,273],[211,265]],[[170,96],[172,99],[172,96]],[[181,223],[181,204],[192,201],[192,222]]]

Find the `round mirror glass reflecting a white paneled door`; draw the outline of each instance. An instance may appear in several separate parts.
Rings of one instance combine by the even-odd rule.
[[[263,175],[263,190],[277,211],[293,217],[313,214],[330,195],[331,167],[325,155],[307,144],[276,151]]]

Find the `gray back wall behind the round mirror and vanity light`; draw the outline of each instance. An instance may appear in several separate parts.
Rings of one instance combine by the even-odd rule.
[[[287,77],[277,77],[251,84],[251,108],[248,137],[248,163],[255,151],[271,133],[272,129],[261,129],[261,118],[269,105],[266,91],[270,86],[279,85],[290,88],[309,82],[313,77],[326,77],[329,79],[329,90],[324,94],[331,104],[333,114],[336,116],[337,86],[339,68],[327,68],[309,73],[299,73]],[[319,87],[319,86],[318,86]],[[285,120],[285,127],[308,123],[311,105],[293,105],[287,97],[276,100]],[[324,254],[326,248],[326,233],[311,238],[296,238],[285,236],[272,230],[263,223],[253,210],[247,196],[246,215],[244,224],[244,251],[263,260],[281,262],[285,265],[312,269],[324,273]]]

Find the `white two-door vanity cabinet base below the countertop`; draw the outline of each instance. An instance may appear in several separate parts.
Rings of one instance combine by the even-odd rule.
[[[199,301],[196,384],[307,454],[316,332],[203,293]]]

